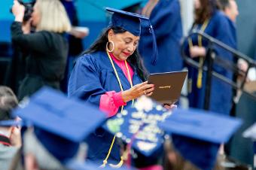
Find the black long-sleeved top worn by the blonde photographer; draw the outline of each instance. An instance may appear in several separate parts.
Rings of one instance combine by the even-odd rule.
[[[13,43],[29,50],[26,77],[20,85],[18,98],[30,96],[44,85],[59,89],[69,50],[66,38],[63,34],[47,31],[24,35],[21,26],[20,22],[11,25]]]

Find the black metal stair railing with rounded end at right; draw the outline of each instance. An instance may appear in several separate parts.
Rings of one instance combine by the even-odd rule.
[[[245,82],[248,75],[248,71],[250,68],[256,67],[256,61],[251,59],[250,57],[246,56],[245,54],[239,52],[238,50],[233,49],[232,47],[228,46],[227,44],[224,44],[221,41],[218,41],[217,39],[211,37],[210,35],[207,35],[204,32],[200,32],[197,30],[194,30],[190,33],[190,35],[187,35],[186,38],[183,39],[181,42],[181,56],[183,57],[184,61],[188,64],[193,66],[194,68],[200,68],[200,65],[198,62],[194,61],[194,59],[191,59],[190,56],[187,56],[184,50],[184,41],[187,41],[188,38],[190,38],[191,35],[201,35],[203,39],[209,42],[208,44],[208,51],[206,53],[206,65],[203,66],[203,71],[206,71],[207,77],[206,77],[206,100],[204,104],[204,109],[209,110],[209,103],[210,103],[210,94],[211,94],[211,83],[212,83],[212,76],[217,77],[218,79],[224,81],[225,83],[228,83],[233,89],[239,90],[239,92],[245,93],[246,95],[250,96],[251,99],[254,99],[256,101],[256,93],[249,93],[245,90]],[[234,64],[230,61],[224,61],[223,57],[216,56],[215,53],[213,53],[214,48],[213,45],[217,45],[218,47],[221,47],[230,53],[233,53],[233,56],[236,57],[236,59],[243,59],[245,62],[248,63],[248,68],[246,71],[242,71],[238,68],[238,65]],[[232,70],[235,74],[238,74],[242,77],[241,83],[236,83],[234,80],[230,80],[227,77],[224,77],[223,75],[219,74],[216,71],[213,71],[213,64],[215,61],[218,62],[219,65],[221,65],[223,68],[228,68]]]

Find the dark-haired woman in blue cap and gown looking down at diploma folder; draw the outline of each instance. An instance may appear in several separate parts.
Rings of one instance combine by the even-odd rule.
[[[146,71],[137,50],[140,31],[138,15],[114,10],[108,28],[78,58],[69,79],[69,97],[83,99],[113,117],[134,99],[151,96],[154,84],[145,81]],[[120,147],[105,129],[97,129],[87,144],[87,159],[100,164],[104,160],[103,165],[120,162]]]

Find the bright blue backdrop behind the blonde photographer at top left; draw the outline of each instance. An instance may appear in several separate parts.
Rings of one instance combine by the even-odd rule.
[[[24,0],[23,0],[24,1]],[[29,0],[26,0],[29,1]],[[127,6],[143,2],[144,0],[76,0],[75,6],[78,10],[78,18],[81,26],[87,26],[90,29],[90,35],[84,38],[84,47],[88,47],[107,24],[108,17],[105,7],[126,8]],[[0,41],[11,42],[10,26],[13,15],[10,13],[13,0],[2,0],[0,11]]]

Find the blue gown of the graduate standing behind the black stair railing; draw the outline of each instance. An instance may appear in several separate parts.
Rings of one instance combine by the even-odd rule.
[[[196,28],[200,29],[202,26],[198,25]],[[219,41],[222,41],[224,44],[229,45],[230,47],[235,47],[234,35],[230,23],[227,20],[227,17],[221,11],[215,11],[212,18],[209,20],[209,24],[204,31],[206,34],[217,38]],[[194,45],[198,45],[197,35],[192,35],[191,39]],[[188,42],[185,42],[185,49],[187,55],[189,55]],[[208,42],[203,40],[203,47],[208,47]],[[213,50],[217,56],[221,56],[222,59],[226,59],[230,62],[233,61],[232,53],[224,50],[221,47],[214,46]],[[199,60],[198,58],[195,60]],[[219,74],[224,75],[224,77],[232,80],[233,72],[228,71],[221,66],[214,64],[213,71],[218,72]],[[192,108],[203,108],[204,102],[206,100],[205,90],[206,90],[206,72],[203,72],[202,88],[197,88],[197,68],[188,66],[188,78],[192,80],[191,92],[188,95],[190,107]],[[215,111],[220,114],[229,114],[232,102],[232,88],[227,83],[218,80],[216,77],[212,77],[212,88],[211,88],[211,97],[210,97],[210,111]]]

